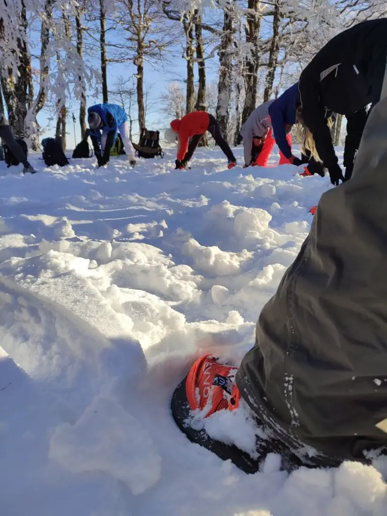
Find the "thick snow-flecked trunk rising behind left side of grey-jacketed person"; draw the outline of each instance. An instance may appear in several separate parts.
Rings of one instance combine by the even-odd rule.
[[[241,123],[244,124],[256,107],[256,90],[258,83],[257,71],[260,61],[258,47],[259,33],[261,30],[261,15],[257,12],[259,0],[248,0],[249,9],[246,19],[246,43],[250,43],[251,54],[245,59],[244,80],[245,80],[245,105],[242,111]]]

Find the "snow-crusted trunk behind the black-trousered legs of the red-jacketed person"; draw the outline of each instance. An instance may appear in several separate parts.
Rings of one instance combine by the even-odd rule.
[[[232,56],[231,45],[234,38],[234,10],[231,3],[227,3],[224,10],[223,32],[220,42],[219,54],[219,83],[218,103],[216,106],[216,119],[225,140],[227,140],[227,127],[229,124],[229,107],[232,87]]]

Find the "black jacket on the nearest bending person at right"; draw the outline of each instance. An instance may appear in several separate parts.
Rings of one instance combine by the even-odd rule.
[[[350,117],[379,100],[383,82],[387,19],[354,25],[332,38],[303,70],[299,80],[300,101],[305,125],[313,133],[317,152],[330,168],[337,164],[327,126],[327,110]],[[357,135],[366,118],[350,123],[347,162],[359,146]],[[354,131],[355,136],[350,133]],[[357,147],[353,147],[356,145]]]

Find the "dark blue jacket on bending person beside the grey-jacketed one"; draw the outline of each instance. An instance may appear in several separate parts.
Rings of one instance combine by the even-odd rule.
[[[282,154],[290,158],[292,148],[286,140],[285,124],[296,123],[296,104],[299,100],[298,83],[288,88],[269,106],[273,138]]]

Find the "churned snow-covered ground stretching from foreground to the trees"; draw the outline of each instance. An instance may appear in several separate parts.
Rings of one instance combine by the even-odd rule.
[[[0,164],[2,516],[387,514],[383,460],[246,475],[169,410],[195,358],[252,346],[328,178],[218,149],[188,171],[31,163]]]

